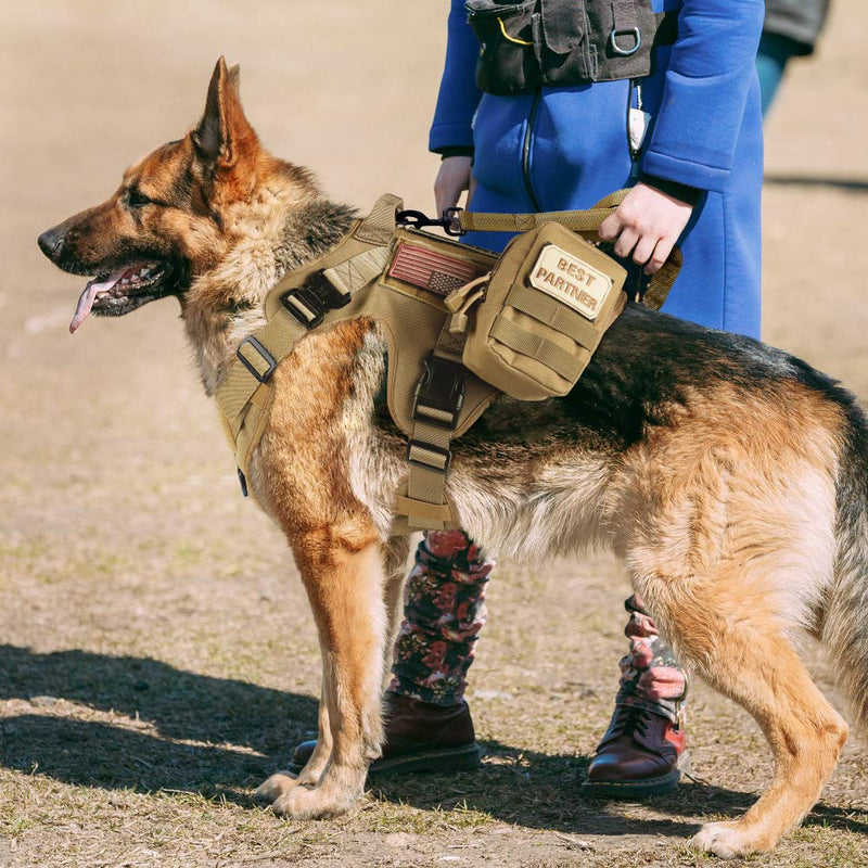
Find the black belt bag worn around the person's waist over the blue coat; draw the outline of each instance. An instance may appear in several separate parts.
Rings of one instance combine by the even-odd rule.
[[[652,49],[678,35],[676,12],[650,0],[467,0],[480,40],[476,85],[486,93],[525,93],[540,86],[642,78]]]

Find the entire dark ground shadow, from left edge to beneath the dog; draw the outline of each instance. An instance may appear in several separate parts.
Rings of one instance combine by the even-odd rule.
[[[317,718],[317,700],[298,693],[143,658],[39,654],[13,646],[0,646],[0,699],[29,703],[0,719],[0,764],[8,768],[103,789],[193,792],[243,806],[253,804],[253,788],[285,764],[291,746],[316,728]],[[62,701],[119,712],[132,723],[63,716],[56,707]],[[684,837],[704,816],[737,815],[755,799],[691,783],[650,800],[654,817],[636,812],[627,817],[583,793],[587,757],[495,741],[483,748],[487,758],[476,773],[379,778],[372,792],[424,809],[483,813],[579,835]],[[805,822],[868,833],[868,824],[828,805],[818,805]]]

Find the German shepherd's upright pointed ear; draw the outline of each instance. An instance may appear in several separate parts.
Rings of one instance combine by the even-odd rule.
[[[239,95],[239,67],[229,69],[220,58],[208,85],[202,120],[192,132],[200,156],[220,168],[232,168],[256,142]]]

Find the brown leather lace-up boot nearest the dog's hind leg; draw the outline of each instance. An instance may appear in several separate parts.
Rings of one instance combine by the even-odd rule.
[[[583,790],[610,799],[660,795],[674,790],[689,768],[682,726],[642,707],[617,705]]]

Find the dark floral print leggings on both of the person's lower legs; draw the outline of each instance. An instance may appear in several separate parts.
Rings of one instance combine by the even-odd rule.
[[[437,705],[461,701],[485,624],[485,586],[494,566],[463,531],[425,533],[407,580],[390,690]],[[680,723],[685,675],[641,601],[634,596],[625,607],[630,648],[620,664],[616,704]]]

